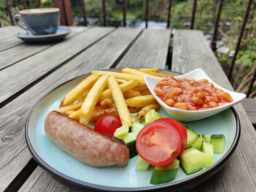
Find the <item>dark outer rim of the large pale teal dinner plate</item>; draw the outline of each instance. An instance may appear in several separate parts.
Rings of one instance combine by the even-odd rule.
[[[121,70],[122,68],[110,68],[108,70]],[[134,69],[138,69],[138,68],[134,68]],[[172,73],[176,73],[176,74],[180,74],[177,72],[173,72],[171,70],[160,70],[160,71],[167,71],[167,72],[172,72]],[[84,74],[84,75],[88,75],[90,73]],[[81,75],[81,76],[84,76]],[[200,172],[196,175],[193,175],[192,177],[183,179],[183,180],[179,180],[179,181],[175,181],[173,183],[166,183],[166,184],[161,184],[161,185],[156,185],[156,186],[145,186],[145,187],[115,187],[115,186],[104,186],[104,185],[100,185],[100,184],[95,184],[95,183],[89,183],[89,182],[85,182],[82,180],[78,180],[75,179],[73,177],[70,177],[68,175],[65,175],[62,172],[59,172],[58,170],[54,169],[52,166],[50,166],[49,164],[47,164],[35,151],[35,149],[32,146],[32,143],[30,141],[29,138],[29,120],[32,116],[33,111],[35,110],[35,108],[37,107],[37,105],[49,94],[51,93],[53,90],[57,89],[58,87],[61,87],[62,85],[66,84],[69,81],[72,81],[76,78],[79,78],[81,76],[77,76],[73,79],[70,79],[60,85],[58,85],[57,87],[53,88],[52,90],[49,90],[46,94],[44,94],[44,96],[41,97],[41,99],[38,100],[38,102],[36,102],[36,104],[33,106],[32,110],[29,113],[29,116],[26,120],[26,126],[25,126],[25,139],[26,139],[26,143],[27,146],[29,148],[30,153],[32,154],[32,157],[35,159],[35,161],[39,164],[39,166],[41,166],[42,169],[44,169],[51,177],[53,177],[54,179],[58,180],[59,182],[63,183],[66,186],[69,186],[70,188],[73,189],[92,189],[92,190],[104,190],[104,191],[149,191],[149,190],[157,190],[157,189],[161,189],[161,191],[165,191],[165,190],[178,190],[178,191],[184,191],[184,190],[188,190],[188,189],[192,189],[195,186],[198,186],[199,184],[203,183],[204,181],[206,181],[207,179],[209,179],[210,177],[212,177],[213,175],[215,175],[226,163],[226,161],[230,158],[230,156],[233,154],[233,152],[236,149],[236,146],[239,142],[239,138],[240,138],[240,132],[241,132],[241,128],[240,128],[240,121],[239,121],[239,116],[236,112],[236,110],[231,107],[231,110],[233,112],[235,121],[236,121],[236,133],[235,133],[235,137],[233,140],[233,143],[231,144],[230,148],[227,150],[226,154],[224,154],[223,157],[221,157],[220,160],[218,160],[214,165],[212,165],[211,167],[209,167],[208,169],[204,170],[203,172]]]

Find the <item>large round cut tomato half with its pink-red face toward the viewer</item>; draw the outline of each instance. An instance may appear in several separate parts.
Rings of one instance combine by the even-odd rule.
[[[171,163],[179,154],[180,134],[169,123],[159,121],[145,125],[137,135],[138,154],[154,166]]]

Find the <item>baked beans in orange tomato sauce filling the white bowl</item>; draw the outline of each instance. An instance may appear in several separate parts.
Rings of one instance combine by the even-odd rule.
[[[189,111],[216,108],[233,102],[229,93],[215,88],[207,79],[196,81],[168,76],[157,82],[154,92],[170,107]]]

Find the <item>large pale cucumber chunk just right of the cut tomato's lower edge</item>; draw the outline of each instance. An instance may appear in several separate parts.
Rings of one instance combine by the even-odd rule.
[[[180,164],[187,175],[198,172],[204,168],[204,153],[193,147],[185,148],[179,158]]]

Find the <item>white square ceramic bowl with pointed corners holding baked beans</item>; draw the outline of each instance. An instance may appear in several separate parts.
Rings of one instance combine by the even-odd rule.
[[[165,78],[159,78],[159,77],[152,77],[152,76],[145,76],[144,80],[145,83],[148,86],[148,89],[150,90],[151,94],[154,96],[154,98],[157,100],[159,105],[168,113],[170,116],[172,116],[174,119],[181,121],[181,122],[190,122],[190,121],[196,121],[199,119],[204,119],[206,117],[215,115],[221,111],[226,110],[227,108],[232,107],[233,105],[236,105],[237,103],[241,102],[246,95],[244,93],[236,93],[234,91],[227,90],[218,84],[216,84],[212,79],[207,76],[207,74],[204,72],[204,70],[198,68],[195,69],[189,73],[180,75],[180,76],[175,76],[175,78],[179,79],[195,79],[198,81],[199,79],[207,79],[209,82],[212,82],[215,88],[220,88],[224,92],[229,93],[232,98],[233,102],[230,102],[226,105],[218,106],[216,108],[210,108],[210,109],[205,109],[205,110],[199,110],[199,111],[186,111],[186,110],[181,110],[177,108],[170,107],[166,105],[156,94],[154,93],[154,88],[157,84],[158,81],[161,81],[162,79]]]

